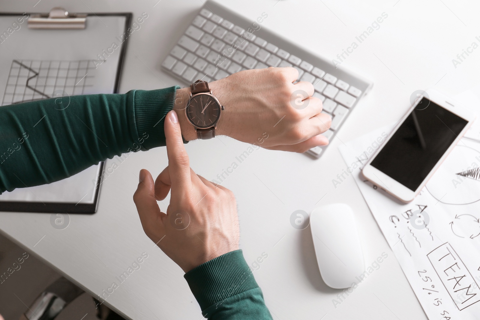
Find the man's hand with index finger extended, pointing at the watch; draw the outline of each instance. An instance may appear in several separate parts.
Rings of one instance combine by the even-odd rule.
[[[239,249],[237,204],[233,193],[190,168],[175,111],[165,119],[168,166],[154,183],[145,169],[133,195],[145,234],[186,273]],[[171,189],[167,213],[157,200]]]

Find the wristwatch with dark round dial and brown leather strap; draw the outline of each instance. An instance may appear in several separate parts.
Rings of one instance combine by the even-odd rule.
[[[190,89],[185,116],[195,127],[198,139],[211,139],[215,137],[216,123],[225,107],[220,105],[206,81],[197,80]]]

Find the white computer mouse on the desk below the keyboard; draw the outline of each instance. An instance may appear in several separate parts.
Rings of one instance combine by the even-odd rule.
[[[315,208],[310,227],[325,284],[343,289],[358,283],[355,277],[365,271],[365,262],[352,209],[344,203]]]

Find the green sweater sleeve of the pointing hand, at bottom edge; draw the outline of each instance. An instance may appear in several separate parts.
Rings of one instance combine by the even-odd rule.
[[[242,250],[207,261],[184,277],[209,320],[272,320]]]

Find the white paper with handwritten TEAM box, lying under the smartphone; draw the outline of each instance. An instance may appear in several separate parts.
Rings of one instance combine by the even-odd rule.
[[[479,319],[480,180],[458,173],[480,167],[480,143],[462,139],[420,195],[402,203],[360,174],[377,138],[391,130],[366,134],[340,152],[356,167],[352,175],[428,318]]]

